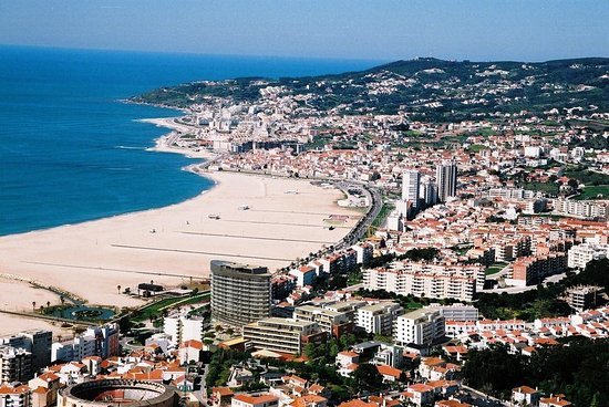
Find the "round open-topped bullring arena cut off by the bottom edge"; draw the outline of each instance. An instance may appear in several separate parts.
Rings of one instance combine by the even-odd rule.
[[[154,382],[103,379],[69,386],[60,392],[59,407],[175,407],[178,396]]]

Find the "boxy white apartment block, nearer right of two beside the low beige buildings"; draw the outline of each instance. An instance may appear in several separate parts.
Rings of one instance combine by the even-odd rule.
[[[444,316],[437,310],[421,309],[400,315],[394,340],[402,345],[429,346],[444,336]]]

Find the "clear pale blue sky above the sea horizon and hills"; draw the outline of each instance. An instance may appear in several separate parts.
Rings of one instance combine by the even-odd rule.
[[[2,0],[0,44],[398,60],[609,56],[609,0]]]

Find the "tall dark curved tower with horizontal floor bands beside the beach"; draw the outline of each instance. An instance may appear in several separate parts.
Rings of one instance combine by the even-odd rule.
[[[241,327],[270,314],[270,274],[265,267],[211,261],[211,317]]]

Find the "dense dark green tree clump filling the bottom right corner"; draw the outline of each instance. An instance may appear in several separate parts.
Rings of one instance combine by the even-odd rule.
[[[569,337],[565,346],[547,346],[530,358],[504,346],[471,351],[464,382],[508,399],[512,388],[527,385],[546,394],[564,394],[576,406],[609,406],[609,340]]]

